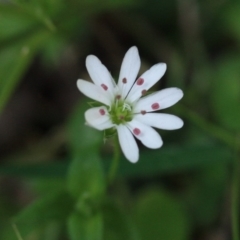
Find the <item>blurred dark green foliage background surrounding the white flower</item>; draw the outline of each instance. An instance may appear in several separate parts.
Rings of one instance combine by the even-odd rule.
[[[231,239],[239,22],[235,0],[0,0],[0,239]],[[109,183],[112,141],[84,125],[76,80],[88,54],[117,79],[133,45],[141,72],[167,63],[155,88],[183,89],[167,112],[185,125]]]

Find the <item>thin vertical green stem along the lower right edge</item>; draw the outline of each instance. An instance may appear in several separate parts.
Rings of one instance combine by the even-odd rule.
[[[240,159],[239,149],[235,151],[233,159],[233,178],[232,178],[232,200],[231,200],[231,219],[233,240],[239,240],[239,171]]]

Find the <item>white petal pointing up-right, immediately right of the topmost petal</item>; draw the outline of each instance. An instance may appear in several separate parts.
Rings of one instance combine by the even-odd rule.
[[[150,89],[166,72],[167,65],[165,63],[158,63],[152,66],[148,71],[141,75],[138,80],[142,81],[142,84],[137,80],[131,89],[127,100],[134,102],[142,96],[142,91]]]

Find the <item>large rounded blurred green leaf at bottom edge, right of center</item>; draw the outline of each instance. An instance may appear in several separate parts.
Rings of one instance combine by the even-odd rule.
[[[190,222],[181,203],[164,191],[143,192],[134,209],[142,239],[187,240]]]

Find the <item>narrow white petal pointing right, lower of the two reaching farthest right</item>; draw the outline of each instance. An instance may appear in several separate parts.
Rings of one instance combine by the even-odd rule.
[[[165,130],[179,129],[183,126],[181,118],[166,113],[136,114],[134,119],[146,125]]]

